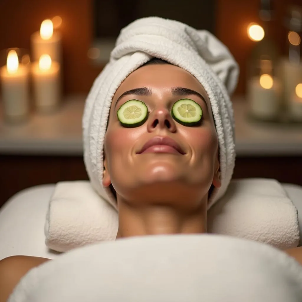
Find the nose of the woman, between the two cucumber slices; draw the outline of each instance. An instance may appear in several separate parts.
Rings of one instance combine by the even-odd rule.
[[[176,124],[167,108],[157,108],[148,119],[147,130],[152,132],[156,129],[176,131]]]

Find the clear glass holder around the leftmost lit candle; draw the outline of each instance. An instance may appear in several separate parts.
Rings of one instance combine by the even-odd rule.
[[[8,48],[0,53],[0,83],[6,120],[21,121],[29,115],[30,63],[25,49]]]

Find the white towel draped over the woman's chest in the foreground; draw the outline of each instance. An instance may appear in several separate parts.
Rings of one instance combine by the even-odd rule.
[[[301,302],[302,266],[271,246],[221,235],[118,239],[29,271],[8,302]]]

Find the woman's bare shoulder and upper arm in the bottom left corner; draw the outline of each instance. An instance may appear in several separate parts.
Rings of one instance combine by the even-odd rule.
[[[0,302],[6,302],[20,279],[35,266],[50,259],[31,256],[11,256],[0,261]]]

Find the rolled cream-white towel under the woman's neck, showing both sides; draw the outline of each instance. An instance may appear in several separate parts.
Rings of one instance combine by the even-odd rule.
[[[280,249],[299,244],[297,209],[274,179],[232,180],[223,198],[208,210],[208,232],[268,243]],[[117,211],[89,182],[61,182],[50,200],[46,245],[65,252],[114,240]]]

